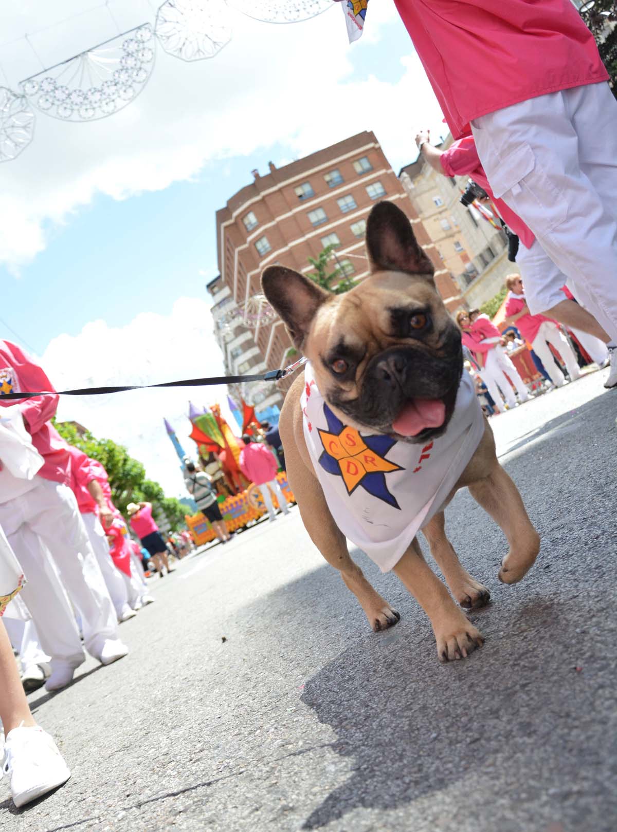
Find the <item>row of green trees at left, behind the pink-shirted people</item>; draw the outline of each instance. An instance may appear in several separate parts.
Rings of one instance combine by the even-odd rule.
[[[133,459],[127,448],[112,439],[97,439],[86,431],[81,433],[72,422],[56,422],[57,432],[70,445],[75,445],[92,459],[97,459],[107,471],[114,505],[125,514],[128,503],[152,503],[153,512],[163,514],[172,531],[184,525],[186,507],[176,498],[167,498],[158,483],[146,478],[146,469]]]

